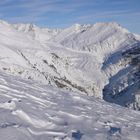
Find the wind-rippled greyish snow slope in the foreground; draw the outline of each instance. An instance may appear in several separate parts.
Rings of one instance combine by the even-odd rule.
[[[2,140],[139,140],[140,113],[0,72]]]

